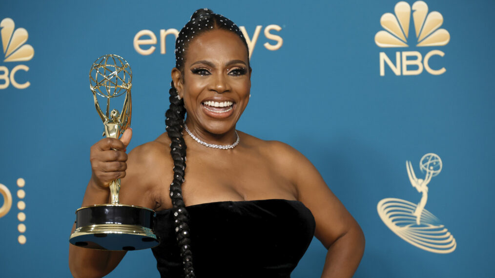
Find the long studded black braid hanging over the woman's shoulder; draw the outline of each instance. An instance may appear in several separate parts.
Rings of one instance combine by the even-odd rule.
[[[184,129],[184,116],[186,108],[184,101],[178,98],[174,83],[170,88],[170,108],[165,112],[165,120],[168,137],[172,141],[170,144],[170,154],[174,161],[174,179],[170,184],[170,198],[172,199],[172,211],[174,213],[174,225],[179,244],[179,251],[184,265],[184,275],[186,278],[195,278],[193,268],[193,253],[191,252],[191,239],[189,236],[189,214],[186,210],[184,199],[182,198],[182,183],[184,182],[184,171],[186,170],[186,142],[182,137]]]

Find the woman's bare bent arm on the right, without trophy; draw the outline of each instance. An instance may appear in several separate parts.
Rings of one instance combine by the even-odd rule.
[[[364,252],[364,234],[316,168],[294,148],[279,143],[284,168],[293,173],[298,197],[313,214],[315,236],[328,249],[322,278],[352,277]]]

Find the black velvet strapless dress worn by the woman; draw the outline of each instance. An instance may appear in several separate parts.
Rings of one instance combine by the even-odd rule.
[[[188,206],[198,278],[289,278],[314,235],[301,202],[221,201]],[[162,278],[183,278],[172,211],[156,212],[160,245],[152,248]]]

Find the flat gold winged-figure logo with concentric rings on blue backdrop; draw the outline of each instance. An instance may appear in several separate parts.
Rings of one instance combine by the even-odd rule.
[[[383,223],[403,240],[423,250],[446,254],[455,250],[457,243],[440,220],[425,209],[428,184],[442,171],[442,160],[434,153],[425,154],[419,163],[424,179],[418,179],[410,161],[405,162],[411,185],[421,193],[418,204],[398,198],[385,198],[378,202],[378,215]]]

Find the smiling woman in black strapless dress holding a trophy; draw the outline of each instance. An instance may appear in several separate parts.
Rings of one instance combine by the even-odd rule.
[[[197,10],[175,50],[167,133],[129,157],[131,129],[93,145],[83,206],[106,203],[109,182],[122,178],[121,203],[157,211],[162,277],[289,277],[313,234],[329,250],[322,277],[351,277],[364,236],[314,166],[235,129],[251,77],[239,28]],[[101,277],[124,255],[70,246],[69,265],[75,277]]]

